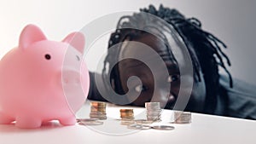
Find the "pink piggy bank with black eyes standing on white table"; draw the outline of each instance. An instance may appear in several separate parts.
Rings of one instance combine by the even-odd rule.
[[[38,128],[59,120],[76,123],[75,112],[89,92],[89,72],[82,59],[84,35],[49,41],[33,25],[20,34],[19,46],[0,60],[0,124]]]

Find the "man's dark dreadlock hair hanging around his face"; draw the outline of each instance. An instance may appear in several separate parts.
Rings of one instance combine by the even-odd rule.
[[[227,55],[224,54],[221,47],[226,48],[226,45],[220,41],[217,37],[213,36],[211,33],[203,31],[201,29],[201,22],[195,18],[185,18],[183,14],[180,14],[176,9],[164,8],[160,5],[159,10],[155,9],[153,5],[149,5],[148,9],[140,9],[140,13],[134,13],[131,16],[123,16],[119,19],[116,31],[111,34],[108,43],[108,49],[114,44],[122,43],[127,39],[129,41],[135,40],[141,37],[147,32],[143,32],[137,29],[125,28],[129,26],[143,26],[145,23],[150,23],[147,17],[143,17],[142,13],[154,14],[162,20],[165,20],[168,24],[172,25],[177,33],[182,37],[183,42],[186,44],[189,51],[189,55],[192,60],[192,65],[194,67],[194,75],[199,81],[200,71],[203,73],[203,77],[206,83],[207,97],[205,104],[205,112],[214,112],[217,105],[217,95],[219,89],[219,73],[218,66],[224,68],[224,71],[228,74],[230,78],[230,87],[233,87],[232,78],[230,72],[226,68],[226,64],[230,66],[230,60]],[[152,24],[152,22],[151,22]],[[160,30],[157,23],[151,25],[158,31]],[[173,55],[169,45],[166,45],[170,57]],[[119,94],[124,94],[119,80],[119,66],[118,64],[113,66],[112,70],[108,69],[107,64],[111,65],[113,59],[118,59],[120,49],[116,49],[114,53],[107,55],[104,61],[104,67],[102,73],[110,73],[110,82],[114,85],[115,92]],[[225,59],[225,62],[224,60]],[[112,66],[109,66],[112,67]]]

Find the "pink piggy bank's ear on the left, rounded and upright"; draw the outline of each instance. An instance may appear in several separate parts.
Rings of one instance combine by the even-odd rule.
[[[28,25],[20,34],[19,47],[26,49],[30,44],[45,40],[44,33],[38,28],[38,26]]]

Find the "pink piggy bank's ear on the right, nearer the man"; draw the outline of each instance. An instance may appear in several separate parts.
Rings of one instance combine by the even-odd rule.
[[[84,52],[84,34],[81,32],[73,32],[70,33],[67,37],[65,37],[62,42],[69,43],[72,45],[75,49],[78,49],[79,52]]]

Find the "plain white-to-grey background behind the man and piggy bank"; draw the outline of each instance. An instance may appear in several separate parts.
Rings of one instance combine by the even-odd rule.
[[[229,47],[230,72],[256,84],[256,0],[22,0],[0,1],[0,58],[18,45],[20,32],[27,24],[39,26],[50,40],[61,41],[68,33],[79,31],[92,20],[124,10],[138,11],[152,3],[176,8],[187,17],[201,20],[203,29],[212,32]],[[106,37],[106,40],[108,37]],[[107,49],[107,43],[102,43]],[[102,53],[102,51],[98,51]],[[99,56],[87,61],[95,70]]]

